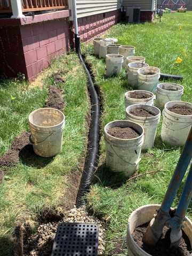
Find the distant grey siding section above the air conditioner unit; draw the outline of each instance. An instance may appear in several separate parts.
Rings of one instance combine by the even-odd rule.
[[[123,6],[126,10],[127,7],[140,7],[141,11],[153,11],[152,9],[153,0],[123,0]]]

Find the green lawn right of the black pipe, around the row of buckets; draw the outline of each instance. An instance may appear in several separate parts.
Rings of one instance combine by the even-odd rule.
[[[171,13],[163,16],[162,22],[138,25],[116,25],[106,35],[118,38],[122,45],[134,45],[136,55],[146,57],[146,63],[159,67],[163,73],[181,74],[185,93],[183,101],[191,102],[192,95],[192,12]],[[103,99],[103,127],[115,119],[125,119],[124,93],[131,90],[125,71],[118,77],[105,77],[105,61],[95,58],[91,44],[84,46],[86,60],[93,65],[95,81],[100,87]],[[88,53],[87,53],[88,52]],[[90,53],[90,54],[89,54]],[[182,62],[175,63],[180,57]],[[100,218],[107,221],[105,255],[126,254],[126,227],[132,211],[141,205],[161,204],[167,185],[177,165],[181,148],[168,147],[160,138],[162,122],[158,125],[155,147],[142,154],[138,179],[122,182],[122,178],[111,173],[105,166],[105,143],[101,139],[101,156],[95,184],[87,197],[89,207]],[[181,192],[181,191],[180,191]],[[174,201],[176,206],[178,197]],[[192,218],[191,206],[188,215]],[[120,245],[120,249],[119,248]]]

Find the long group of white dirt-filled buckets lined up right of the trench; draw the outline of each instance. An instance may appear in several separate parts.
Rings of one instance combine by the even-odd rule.
[[[192,115],[179,115],[169,108],[174,105],[188,106],[183,102],[183,86],[174,83],[159,84],[160,69],[149,66],[145,58],[135,56],[135,47],[119,45],[115,38],[95,38],[94,53],[100,58],[106,58],[106,75],[112,76],[126,69],[128,84],[133,91],[125,93],[126,120],[115,120],[108,123],[104,129],[106,143],[106,164],[114,172],[124,173],[126,177],[133,175],[138,169],[141,151],[154,147],[157,126],[163,109],[162,141],[174,146],[185,145],[188,132],[192,124]],[[131,98],[131,93],[146,95],[141,99]],[[154,100],[156,93],[156,106]],[[152,113],[151,116],[135,116],[133,110],[142,108]],[[111,127],[132,127],[140,135],[134,139],[119,139],[111,136]],[[181,132],[182,131],[182,132]]]

